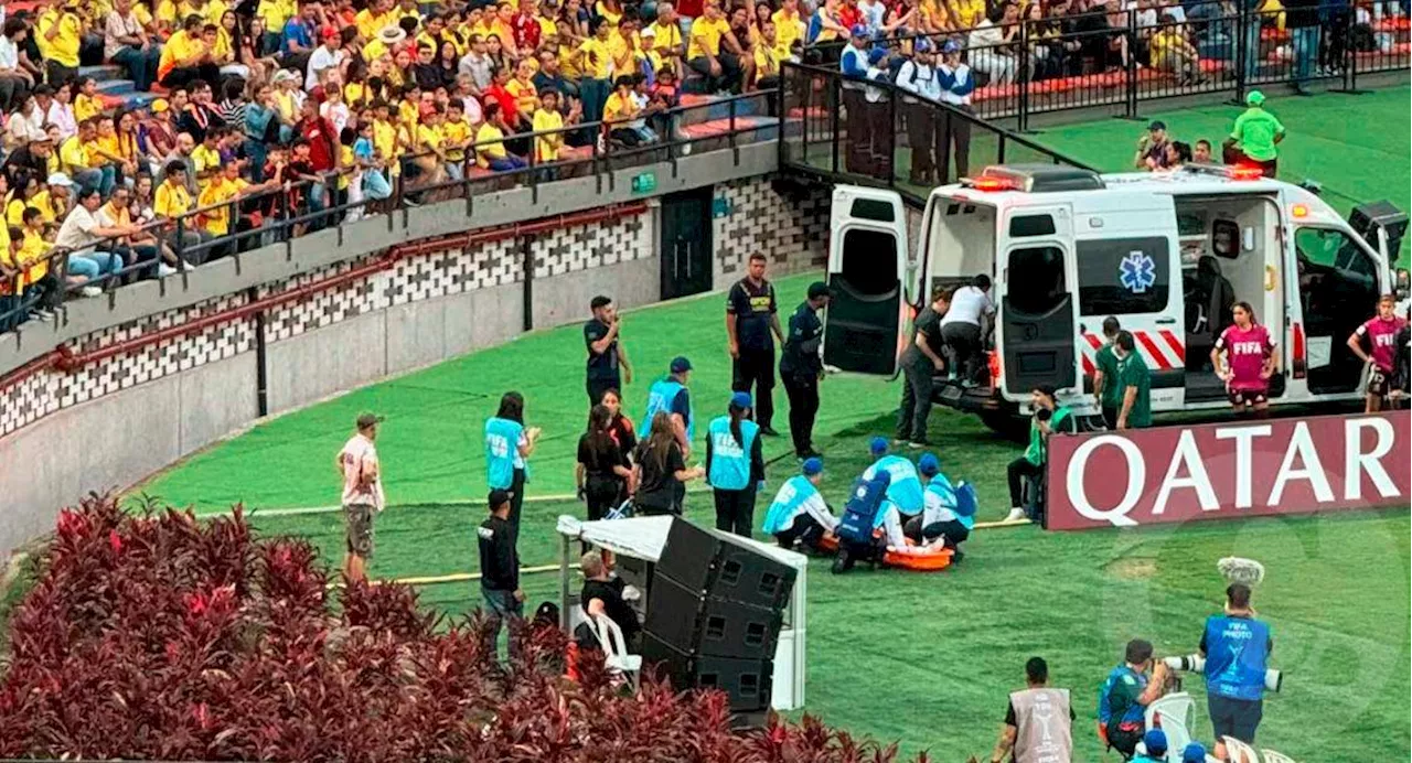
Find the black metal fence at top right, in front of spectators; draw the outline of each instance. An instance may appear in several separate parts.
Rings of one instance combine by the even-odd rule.
[[[1086,4],[1082,3],[1080,4]],[[1412,69],[1412,3],[1372,0],[1356,7],[1262,11],[1248,0],[1185,4],[1142,0],[1123,10],[1094,3],[1083,13],[1001,17],[979,28],[881,39],[908,55],[916,39],[956,41],[977,75],[976,114],[1029,128],[1034,114],[1111,107],[1135,118],[1139,103],[1176,96],[1320,86],[1354,92],[1358,78]],[[1262,6],[1262,3],[1254,3]],[[816,45],[810,61],[837,61],[842,42]],[[897,63],[894,62],[894,72]]]

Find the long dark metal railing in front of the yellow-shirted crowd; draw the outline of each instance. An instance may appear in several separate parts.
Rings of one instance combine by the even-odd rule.
[[[658,133],[657,140],[641,141],[637,145],[630,145],[618,140],[621,135],[614,135],[616,130],[631,124],[620,120],[517,133],[498,140],[453,147],[450,151],[442,151],[442,155],[421,152],[401,157],[395,168],[381,169],[391,189],[385,199],[364,196],[357,202],[350,200],[349,195],[337,188],[339,176],[349,178],[356,169],[342,168],[325,173],[319,182],[289,182],[232,202],[191,209],[175,219],[143,224],[137,233],[95,238],[83,247],[54,247],[42,260],[54,276],[54,281],[45,283],[52,293],[44,288],[35,289],[34,283],[24,281],[25,272],[34,272],[34,265],[41,261],[27,262],[28,267],[21,267],[17,274],[0,275],[7,283],[4,291],[16,292],[0,293],[0,333],[30,320],[40,309],[62,312],[69,300],[82,299],[80,295],[88,286],[107,293],[133,281],[154,278],[158,262],[193,268],[212,260],[232,257],[236,258],[239,268],[239,258],[247,251],[281,243],[285,258],[292,260],[294,241],[305,231],[336,228],[342,244],[345,226],[354,220],[381,216],[385,217],[388,230],[393,230],[397,216],[402,216],[405,224],[405,216],[411,209],[455,199],[465,199],[466,216],[470,217],[474,197],[480,193],[528,188],[532,199],[538,202],[539,188],[544,183],[572,178],[592,176],[597,182],[599,193],[611,192],[616,182],[613,172],[617,169],[669,162],[675,178],[678,162],[692,152],[730,149],[730,161],[738,165],[741,147],[772,141],[785,128],[782,120],[771,116],[778,111],[777,97],[775,90],[753,92],[650,114],[644,126]],[[703,128],[706,123],[710,126]],[[558,158],[541,161],[538,142],[561,142],[561,140],[563,151],[556,151]],[[522,155],[524,166],[504,171],[479,166],[479,149],[493,145],[503,145],[515,155]],[[463,158],[448,159],[448,154],[463,154]],[[313,199],[319,203],[311,203]],[[212,236],[206,231],[205,219],[222,210],[226,214],[227,233]],[[134,245],[134,238],[143,244]],[[137,245],[152,250],[143,251],[144,257],[133,261],[136,257],[131,255],[137,254]],[[123,267],[117,271],[83,282],[68,282],[71,258],[93,251],[128,257],[124,257]]]

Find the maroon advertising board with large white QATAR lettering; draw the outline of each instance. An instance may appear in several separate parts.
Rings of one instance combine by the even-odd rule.
[[[1412,415],[1097,432],[1049,441],[1045,527],[1083,530],[1408,503]]]

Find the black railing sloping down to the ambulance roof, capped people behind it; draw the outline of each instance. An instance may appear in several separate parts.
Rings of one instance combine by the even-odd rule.
[[[916,97],[890,82],[786,63],[785,114],[802,120],[779,141],[779,165],[834,181],[891,188],[916,206],[932,188],[990,164],[1062,164],[1091,169],[956,106]]]

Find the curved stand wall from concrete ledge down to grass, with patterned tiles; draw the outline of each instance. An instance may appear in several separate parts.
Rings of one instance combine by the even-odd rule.
[[[777,185],[762,169],[775,148],[750,149],[761,158],[737,172],[753,176],[722,179],[729,159],[692,157],[705,168],[696,188],[713,193],[714,289],[754,251],[775,275],[825,261],[829,188]],[[517,192],[505,193],[476,197],[470,219],[457,200],[441,205],[457,213],[411,210],[391,234],[376,219],[298,238],[288,260],[217,261],[165,293],[154,285],[145,313],[127,289],[71,303],[68,323],[47,327],[56,344],[24,331],[0,354],[0,553],[86,492],[131,485],[261,416],[583,320],[594,293],[628,307],[661,299],[659,199],[589,195],[548,217],[524,203],[508,221]]]

